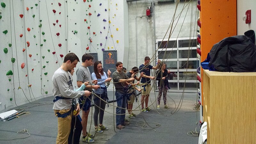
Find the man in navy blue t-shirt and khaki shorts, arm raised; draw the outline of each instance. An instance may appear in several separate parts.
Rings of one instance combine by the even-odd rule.
[[[151,79],[155,79],[155,76],[150,76],[150,70],[151,69],[158,69],[159,64],[161,63],[160,60],[157,61],[157,66],[153,67],[149,64],[150,58],[148,56],[145,57],[144,59],[144,63],[142,65],[140,65],[140,73],[143,72],[144,75],[141,76],[141,86],[142,86],[142,96],[141,96],[141,108],[142,108],[142,112],[147,113],[150,108],[148,108],[148,97],[149,97],[149,93],[151,90],[151,86],[150,86],[150,82]],[[145,109],[144,109],[144,101],[145,101]]]

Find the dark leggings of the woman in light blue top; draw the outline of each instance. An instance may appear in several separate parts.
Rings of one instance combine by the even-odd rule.
[[[107,97],[105,96],[105,94],[97,94],[99,97],[101,97],[103,100],[107,101]],[[97,126],[98,125],[98,115],[100,113],[100,124],[102,124],[103,122],[103,116],[104,116],[104,110],[106,107],[106,102],[104,102],[103,100],[100,100],[100,98],[98,97],[94,97],[93,101],[94,101],[94,114],[93,114],[93,120],[94,120],[94,125]],[[98,107],[97,107],[97,106]],[[102,109],[100,109],[100,108]]]

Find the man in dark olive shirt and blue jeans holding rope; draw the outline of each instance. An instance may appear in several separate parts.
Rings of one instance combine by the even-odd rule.
[[[129,122],[124,121],[128,90],[126,87],[126,82],[131,82],[134,80],[133,77],[129,78],[126,76],[122,68],[123,63],[120,61],[117,62],[116,71],[112,74],[113,82],[116,87],[116,128],[119,130],[124,128],[125,125],[130,124]]]

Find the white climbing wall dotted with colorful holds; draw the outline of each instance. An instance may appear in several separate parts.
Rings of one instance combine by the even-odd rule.
[[[0,112],[52,96],[52,75],[64,56],[116,50],[123,61],[125,37],[123,1],[0,0]],[[128,17],[128,15],[127,15]],[[126,19],[127,20],[127,19]],[[127,22],[126,22],[127,23]],[[127,35],[126,35],[127,36]],[[104,67],[104,64],[103,64]],[[76,75],[73,76],[76,86]]]

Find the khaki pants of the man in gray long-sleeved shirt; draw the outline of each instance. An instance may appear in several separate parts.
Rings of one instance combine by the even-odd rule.
[[[55,116],[58,116],[56,113],[60,114],[67,113],[70,109],[63,110],[54,110]],[[73,113],[71,112],[69,116],[62,118],[58,117],[58,135],[56,139],[56,144],[68,144],[68,135],[71,128],[71,119]]]

